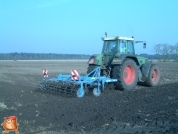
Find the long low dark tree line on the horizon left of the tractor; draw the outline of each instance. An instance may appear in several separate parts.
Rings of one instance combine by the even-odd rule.
[[[0,60],[58,60],[58,59],[89,59],[85,54],[55,53],[0,53]]]

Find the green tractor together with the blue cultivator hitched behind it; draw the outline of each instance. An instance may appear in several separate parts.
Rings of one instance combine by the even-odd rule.
[[[132,90],[138,82],[147,86],[159,84],[159,67],[146,57],[135,54],[134,44],[143,43],[143,48],[146,48],[145,41],[134,41],[133,37],[107,37],[107,33],[102,40],[102,53],[89,58],[85,76],[72,70],[71,74],[44,78],[39,88],[81,98],[90,89],[95,96],[100,96],[101,91],[110,85],[114,85],[111,86],[114,89]],[[43,75],[46,76],[44,72]]]

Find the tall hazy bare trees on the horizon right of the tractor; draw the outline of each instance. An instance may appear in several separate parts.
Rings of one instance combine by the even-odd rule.
[[[156,44],[153,47],[153,51],[159,61],[173,60],[178,62],[178,43],[175,45]]]

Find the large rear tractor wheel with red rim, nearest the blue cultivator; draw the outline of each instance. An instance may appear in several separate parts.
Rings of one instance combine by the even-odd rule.
[[[112,70],[112,78],[117,79],[116,88],[120,90],[132,90],[138,82],[138,67],[132,59],[126,58],[119,65],[114,66]]]

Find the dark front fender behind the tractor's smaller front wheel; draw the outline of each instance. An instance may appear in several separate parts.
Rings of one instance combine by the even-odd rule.
[[[145,64],[143,64],[140,67],[143,77],[146,77],[146,78],[148,77],[148,73],[149,73],[149,70],[152,64],[153,64],[153,61],[147,61]]]

